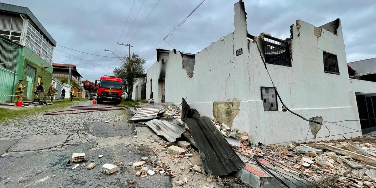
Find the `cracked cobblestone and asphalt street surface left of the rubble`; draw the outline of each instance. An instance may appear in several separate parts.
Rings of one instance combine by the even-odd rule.
[[[90,104],[90,101],[73,103],[74,106]],[[132,138],[138,135],[137,129],[148,128],[127,123],[123,111],[36,114],[8,120],[0,124],[0,187],[127,188],[130,180],[135,180],[132,186],[136,188],[173,187],[170,176],[155,174],[141,179],[128,165],[141,161],[141,157],[156,155],[143,146],[143,141]],[[86,161],[67,165],[73,152],[85,153]],[[99,155],[104,156],[99,158]],[[87,170],[91,159],[96,166]],[[100,173],[103,164],[119,162],[122,165],[118,172]],[[79,167],[72,170],[75,164]],[[83,164],[85,167],[81,167]],[[146,167],[153,168],[147,164]]]

